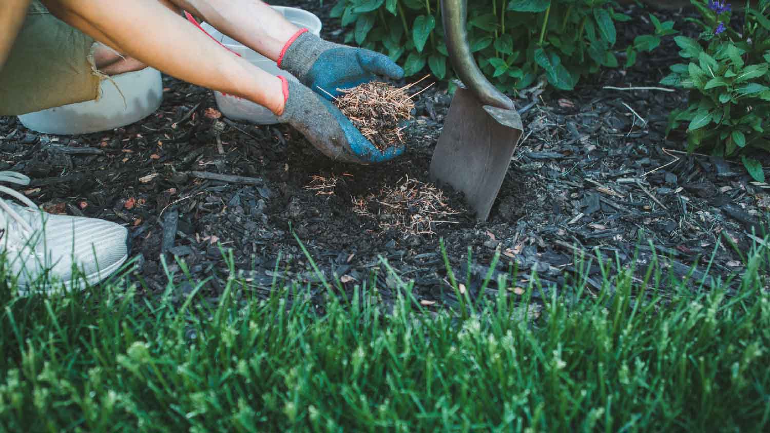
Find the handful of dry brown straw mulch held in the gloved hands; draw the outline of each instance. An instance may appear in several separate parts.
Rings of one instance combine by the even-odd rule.
[[[361,134],[381,151],[403,144],[403,129],[400,126],[412,117],[412,98],[407,90],[423,79],[400,88],[383,82],[368,82],[354,88],[339,89],[342,95],[334,98],[334,105],[343,115],[350,118]]]

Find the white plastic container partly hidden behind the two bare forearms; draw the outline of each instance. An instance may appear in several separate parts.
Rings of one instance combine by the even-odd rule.
[[[321,20],[313,13],[307,12],[300,8],[290,8],[286,6],[273,6],[273,9],[281,12],[281,14],[283,14],[287,20],[292,22],[297,27],[307,28],[308,32],[313,33],[313,35],[320,35]],[[278,68],[276,62],[273,62],[269,58],[266,58],[265,56],[260,55],[258,52],[247,48],[233,38],[229,38],[228,36],[223,35],[206,23],[201,26],[204,30],[206,30],[206,32],[209,33],[209,35],[212,35],[213,38],[215,38],[217,41],[222,42],[222,45],[225,45],[230,50],[233,50],[233,52],[237,52],[253,65],[262,68],[270,74],[283,75],[287,79],[296,80],[296,78],[294,78],[294,76],[289,72]],[[219,111],[222,112],[222,114],[227,118],[233,120],[245,120],[247,122],[256,123],[257,125],[271,125],[273,123],[278,123],[278,119],[275,115],[273,115],[273,112],[270,112],[269,109],[263,107],[262,105],[255,104],[254,102],[239,98],[237,96],[225,95],[221,92],[214,92],[214,98],[216,98],[216,105],[219,108]]]

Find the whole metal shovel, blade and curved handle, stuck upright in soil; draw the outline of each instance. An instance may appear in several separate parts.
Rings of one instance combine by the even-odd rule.
[[[463,192],[476,218],[484,221],[521,137],[521,117],[476,65],[465,28],[467,0],[441,0],[441,16],[449,59],[462,85],[444,118],[430,176]]]

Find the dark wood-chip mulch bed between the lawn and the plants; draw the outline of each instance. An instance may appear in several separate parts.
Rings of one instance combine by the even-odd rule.
[[[342,38],[338,24],[327,18],[330,5],[308,2],[306,8],[326,23],[326,38]],[[650,28],[640,12],[633,9],[636,18],[623,26],[626,40]],[[681,12],[654,13],[683,19]],[[255,289],[269,288],[279,258],[279,278],[315,281],[292,231],[326,276],[343,277],[348,289],[380,269],[387,292],[393,281],[381,271],[381,256],[415,281],[418,298],[447,303],[455,298],[447,290],[439,238],[462,279],[471,276],[471,293],[495,251],[501,258],[496,271],[517,265],[522,279],[537,271],[544,283],[569,278],[575,253],[594,254],[594,248],[623,267],[644,268],[657,253],[674,278],[695,279],[716,251],[714,275],[739,273],[735,249],[747,251],[748,234],[762,231],[762,215],[770,209],[768,185],[752,182],[739,163],[685,155],[681,135],[665,138],[666,115],[686,95],[603,88],[657,85],[676,52],[667,42],[654,55],[641,55],[634,68],[602,72],[576,92],[537,98],[523,115],[525,138],[489,221],[451,215],[457,224],[437,225],[434,234],[383,228],[383,218],[357,213],[354,199],[379,195],[406,178],[429,182],[430,155],[450,103],[445,86],[423,93],[406,155],[383,165],[338,164],[292,128],[229,121],[221,134],[225,153],[219,155],[214,121],[204,115],[216,108],[212,93],[166,77],[159,111],[112,132],[55,137],[0,118],[0,169],[32,177],[25,193],[51,212],[127,225],[138,275],[150,292],[162,291],[167,282],[162,255],[175,278],[186,280],[173,263],[177,255],[194,278],[214,277],[206,290],[219,293],[229,273],[219,245],[232,250],[236,268]],[[260,180],[223,182],[195,172]],[[313,176],[326,185],[336,178],[336,184],[318,194],[306,188]],[[464,207],[457,194],[445,195],[451,208]],[[594,288],[599,272],[594,265]]]

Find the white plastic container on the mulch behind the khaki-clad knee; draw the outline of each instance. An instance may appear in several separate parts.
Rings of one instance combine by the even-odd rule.
[[[160,106],[163,85],[157,69],[144,68],[110,78],[112,81],[102,80],[101,97],[95,101],[48,108],[20,115],[18,120],[43,134],[87,134],[129,125]]]

